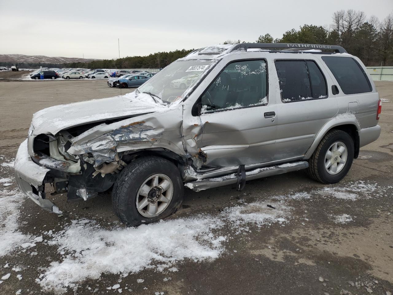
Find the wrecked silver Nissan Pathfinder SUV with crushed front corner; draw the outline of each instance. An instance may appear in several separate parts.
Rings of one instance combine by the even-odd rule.
[[[190,75],[188,87],[171,87]],[[364,65],[340,46],[209,46],[125,96],[35,113],[15,175],[56,213],[45,185],[68,200],[111,189],[116,215],[136,226],[175,212],[184,186],[242,190],[300,169],[336,183],[380,135],[380,112]]]

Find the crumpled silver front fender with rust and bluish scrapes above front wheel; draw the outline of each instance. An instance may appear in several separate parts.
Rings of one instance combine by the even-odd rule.
[[[90,153],[94,166],[113,162],[119,152],[163,147],[177,154],[185,154],[182,146],[181,109],[175,107],[165,113],[145,114],[112,124],[101,124],[72,138],[67,153]],[[91,157],[90,157],[91,158]]]

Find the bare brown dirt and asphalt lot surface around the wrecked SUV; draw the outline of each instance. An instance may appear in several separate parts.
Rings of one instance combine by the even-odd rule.
[[[381,136],[361,149],[360,157],[354,160],[341,183],[325,186],[309,179],[304,171],[298,171],[250,181],[242,192],[231,186],[199,193],[187,189],[182,208],[167,220],[181,223],[187,218],[211,216],[217,221],[213,232],[218,231],[224,237],[220,248],[214,248],[220,249],[217,257],[171,261],[176,271],[160,269],[154,259],[149,267],[135,272],[104,268],[99,277],[86,275],[74,289],[63,291],[118,294],[122,289],[126,294],[156,295],[393,293],[393,82],[377,81],[376,86],[384,99],[379,120]],[[123,94],[133,90],[123,90]],[[0,179],[13,177],[9,163],[26,138],[34,112],[61,103],[119,94],[119,89],[107,87],[105,81],[0,82]],[[15,181],[11,183],[4,190],[15,190]],[[290,208],[285,209],[290,213],[285,221],[253,222],[253,216],[261,212],[257,207],[247,206],[258,202]],[[63,211],[61,216],[42,210],[29,199],[22,201],[18,230],[33,237],[49,229],[62,232],[75,219],[95,220],[99,226],[116,225],[116,230],[124,230],[112,212],[109,195],[78,203],[67,203],[65,197],[56,197],[54,203]],[[265,207],[262,213],[278,210]],[[234,208],[248,208],[255,214],[236,215],[249,218],[248,223],[239,226],[225,215]],[[6,208],[0,208],[0,212],[5,211]],[[158,226],[147,228],[153,231]],[[0,277],[11,273],[0,284],[0,294],[15,294],[19,289],[21,294],[60,293],[56,288],[44,289],[39,284],[41,277],[48,277],[48,269],[67,259],[82,261],[81,256],[91,250],[87,246],[78,258],[73,254],[66,258],[59,254],[61,249],[52,243],[49,234],[44,234],[44,238],[33,248],[17,247],[12,253],[0,256]],[[200,241],[196,238],[195,242]],[[112,252],[116,249],[109,244],[107,255],[116,256]],[[179,242],[175,248],[182,246]],[[160,253],[160,249],[155,251]],[[132,255],[130,251],[129,256]],[[167,258],[170,260],[170,255]],[[91,263],[92,267],[100,267]],[[20,269],[11,270],[15,267]],[[94,273],[88,268],[87,272],[90,271]],[[23,278],[19,280],[17,274]],[[115,284],[120,287],[108,289]]]

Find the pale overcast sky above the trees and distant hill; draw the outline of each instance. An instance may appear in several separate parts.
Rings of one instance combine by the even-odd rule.
[[[112,59],[118,39],[120,57],[255,42],[303,24],[329,26],[340,9],[383,19],[393,0],[0,0],[0,54]]]

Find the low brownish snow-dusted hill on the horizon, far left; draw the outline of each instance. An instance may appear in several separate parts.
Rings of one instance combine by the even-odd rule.
[[[45,55],[0,54],[0,63],[89,63],[101,59],[79,57],[50,57]]]

